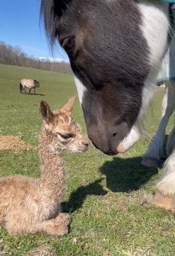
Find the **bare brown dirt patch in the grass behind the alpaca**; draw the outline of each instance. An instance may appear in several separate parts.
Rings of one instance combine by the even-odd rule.
[[[19,150],[21,148],[29,150],[32,148],[32,146],[26,144],[25,141],[21,141],[19,137],[0,136],[0,150],[2,149]]]

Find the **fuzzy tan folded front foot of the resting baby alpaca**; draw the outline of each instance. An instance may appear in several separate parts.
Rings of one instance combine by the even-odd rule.
[[[43,230],[51,235],[63,236],[68,234],[70,216],[66,213],[60,213],[56,219],[47,220],[43,223]]]

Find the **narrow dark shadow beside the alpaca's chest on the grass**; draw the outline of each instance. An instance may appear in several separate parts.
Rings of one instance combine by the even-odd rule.
[[[107,191],[99,184],[102,180],[103,179],[98,179],[87,186],[78,187],[77,190],[70,194],[67,202],[61,203],[63,211],[73,213],[81,208],[88,195],[106,195]]]

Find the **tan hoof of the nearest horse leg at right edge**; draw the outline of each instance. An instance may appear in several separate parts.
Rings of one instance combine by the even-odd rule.
[[[172,211],[175,210],[175,198],[163,196],[158,190],[156,190],[154,193],[153,204],[161,208],[169,209]]]

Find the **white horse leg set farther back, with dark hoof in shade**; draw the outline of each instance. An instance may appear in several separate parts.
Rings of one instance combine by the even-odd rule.
[[[174,83],[169,83],[166,87],[166,93],[162,101],[162,115],[161,122],[158,127],[158,131],[154,137],[154,140],[150,144],[147,152],[144,155],[142,165],[149,167],[158,167],[159,160],[162,153],[165,129],[168,124],[168,120],[175,109],[175,88]]]

